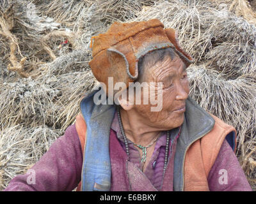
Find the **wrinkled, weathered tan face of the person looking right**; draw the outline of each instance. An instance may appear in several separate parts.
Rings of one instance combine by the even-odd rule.
[[[172,60],[166,55],[163,61],[152,66],[148,65],[144,70],[144,82],[155,82],[155,86],[156,82],[163,83],[163,107],[158,112],[152,112],[150,104],[134,105],[134,109],[141,117],[147,119],[149,126],[164,130],[179,127],[184,121],[186,99],[189,94],[189,80],[184,62],[177,56]],[[157,87],[153,90],[156,90],[155,98],[161,97],[157,96]],[[143,91],[141,91],[141,101],[143,101]]]

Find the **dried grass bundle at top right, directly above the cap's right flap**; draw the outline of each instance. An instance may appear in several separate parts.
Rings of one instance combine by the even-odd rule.
[[[177,29],[180,44],[193,55],[195,64],[207,62],[227,78],[255,76],[256,27],[228,11],[227,4],[159,1],[137,15],[131,21],[159,18],[166,27]]]

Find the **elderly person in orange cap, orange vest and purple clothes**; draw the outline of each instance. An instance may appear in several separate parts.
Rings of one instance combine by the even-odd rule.
[[[157,19],[114,23],[92,40],[100,90],[80,101],[76,124],[6,191],[252,190],[234,153],[236,130],[189,98],[193,59],[173,29]],[[116,91],[118,83],[125,87]],[[99,103],[102,93],[108,100]],[[144,98],[160,98],[160,108]]]

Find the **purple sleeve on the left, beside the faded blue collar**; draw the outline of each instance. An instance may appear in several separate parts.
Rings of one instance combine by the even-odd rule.
[[[76,126],[52,143],[24,175],[17,175],[4,191],[72,191],[81,180],[82,149]]]

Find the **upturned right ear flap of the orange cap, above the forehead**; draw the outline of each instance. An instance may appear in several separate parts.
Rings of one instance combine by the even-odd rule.
[[[178,41],[178,33],[175,31],[175,29],[167,28],[164,29],[166,35],[168,36],[169,40],[173,43],[173,45],[176,48],[177,53],[182,58],[186,66],[188,67],[191,63],[193,63],[194,59],[191,57],[191,55],[188,54],[188,52],[184,51],[179,44]]]

